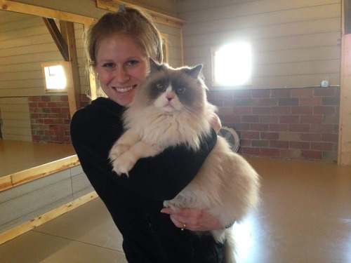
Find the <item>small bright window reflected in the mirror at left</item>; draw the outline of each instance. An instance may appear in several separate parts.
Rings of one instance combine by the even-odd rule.
[[[70,63],[65,61],[41,63],[46,92],[66,92],[72,85]]]

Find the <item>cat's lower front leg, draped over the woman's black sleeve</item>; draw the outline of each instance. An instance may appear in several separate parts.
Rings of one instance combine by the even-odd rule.
[[[140,158],[155,156],[160,152],[161,149],[159,149],[159,147],[139,141],[112,163],[113,170],[117,175],[125,173],[128,176],[128,172]]]

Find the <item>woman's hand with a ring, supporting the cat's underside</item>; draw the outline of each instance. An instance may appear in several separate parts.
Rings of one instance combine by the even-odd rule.
[[[171,208],[163,208],[161,213],[170,215],[173,224],[180,229],[210,231],[224,228],[217,218],[212,217],[204,210],[182,208],[173,211]]]

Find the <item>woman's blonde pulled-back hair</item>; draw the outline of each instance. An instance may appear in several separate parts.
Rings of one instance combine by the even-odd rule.
[[[126,6],[123,11],[107,13],[84,35],[84,48],[88,58],[88,69],[94,72],[96,52],[102,39],[112,34],[128,34],[140,46],[144,55],[163,62],[163,43],[159,30],[151,16],[143,9]]]

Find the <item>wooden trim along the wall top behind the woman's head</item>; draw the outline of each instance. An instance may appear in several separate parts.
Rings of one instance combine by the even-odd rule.
[[[133,4],[129,4],[125,1],[119,1],[119,0],[96,0],[96,7],[106,9],[108,11],[113,11],[113,12],[118,11],[120,4],[133,6]],[[170,15],[164,15],[162,13],[158,13],[152,10],[148,10],[148,9],[146,10],[148,13],[150,13],[150,15],[152,15],[154,22],[157,22],[159,24],[168,25],[170,27],[176,27],[176,28],[182,28],[182,25],[185,24],[185,20],[181,20],[179,18],[173,18]]]

